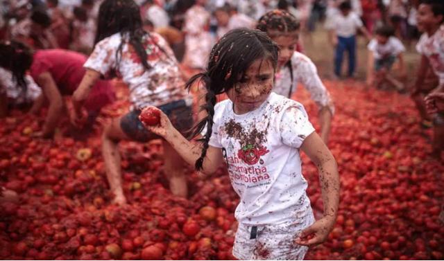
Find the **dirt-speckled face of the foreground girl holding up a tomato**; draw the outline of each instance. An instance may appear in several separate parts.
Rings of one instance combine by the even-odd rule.
[[[227,91],[234,113],[246,114],[259,108],[268,98],[274,84],[275,70],[270,60],[256,60],[248,67],[244,78]]]

